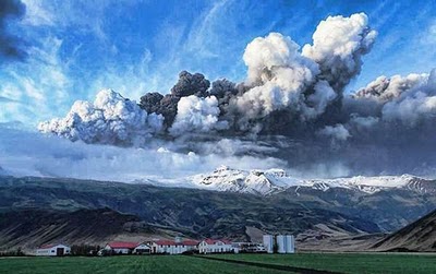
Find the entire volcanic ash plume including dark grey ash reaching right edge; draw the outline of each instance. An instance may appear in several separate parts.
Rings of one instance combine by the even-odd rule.
[[[170,151],[274,157],[307,170],[436,166],[436,71],[379,76],[344,93],[376,36],[363,13],[327,17],[302,49],[291,37],[270,33],[246,46],[242,83],[218,79],[210,86],[203,74],[182,71],[165,95],[147,93],[136,105],[104,91],[95,103],[76,102],[65,118],[39,130],[143,147],[153,136],[156,143],[173,141],[166,143]]]

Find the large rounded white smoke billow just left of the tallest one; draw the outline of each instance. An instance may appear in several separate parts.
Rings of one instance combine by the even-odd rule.
[[[243,119],[262,118],[302,100],[302,92],[319,71],[299,48],[278,33],[255,38],[246,46],[243,59],[249,68],[247,84],[255,86],[234,100]]]

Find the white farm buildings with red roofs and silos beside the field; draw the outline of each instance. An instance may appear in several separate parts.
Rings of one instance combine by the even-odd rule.
[[[111,241],[101,250],[105,254],[183,254],[186,252],[210,253],[294,253],[295,243],[292,235],[264,235],[261,242],[232,242],[229,240],[204,239],[182,240],[150,240],[144,242]],[[69,255],[71,248],[66,245],[45,245],[36,250],[36,255]]]

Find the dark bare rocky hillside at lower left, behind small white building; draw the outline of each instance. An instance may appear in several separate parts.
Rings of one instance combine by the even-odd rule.
[[[49,242],[105,245],[132,231],[156,233],[137,216],[110,209],[74,212],[27,209],[0,213],[0,247],[34,249]],[[134,229],[132,229],[134,228]]]

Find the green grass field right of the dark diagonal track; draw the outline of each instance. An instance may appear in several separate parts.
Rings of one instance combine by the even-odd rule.
[[[340,273],[436,273],[436,254],[425,253],[220,254],[210,257]]]

